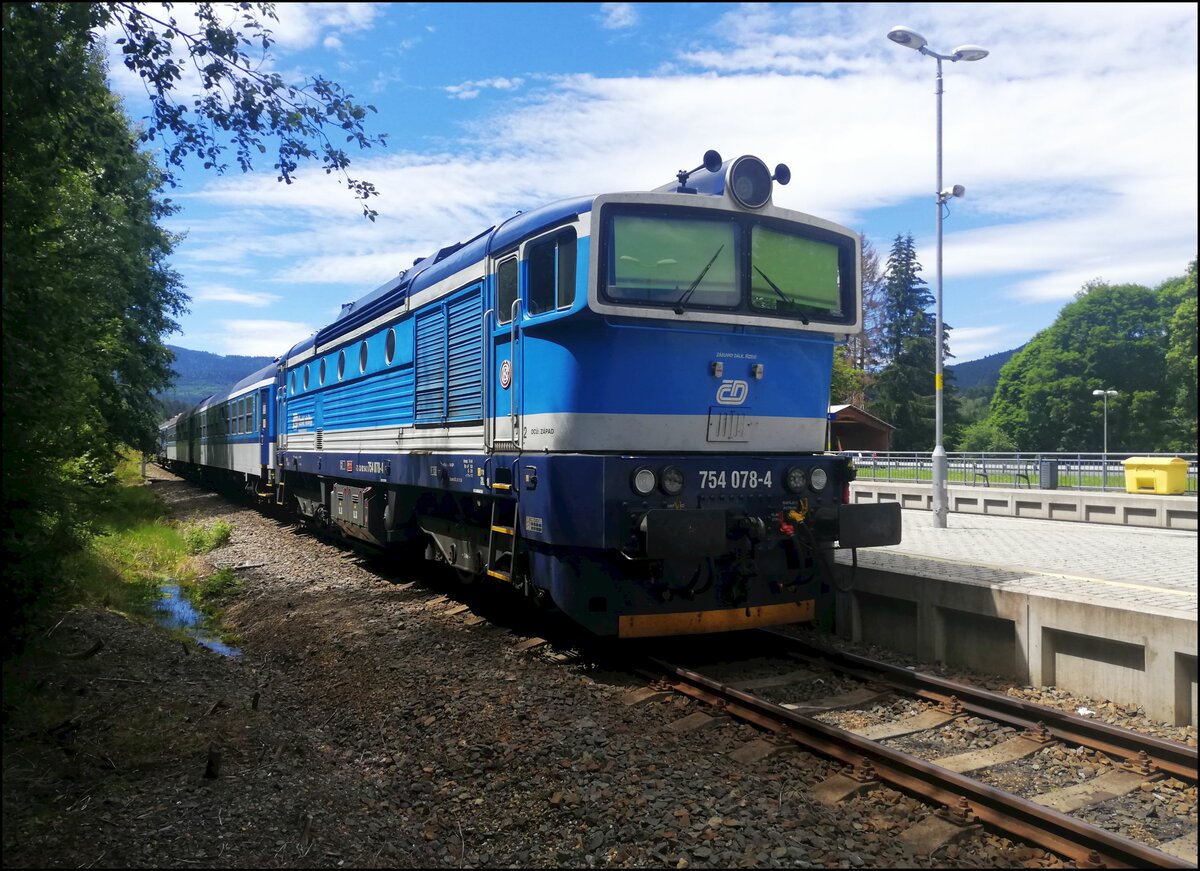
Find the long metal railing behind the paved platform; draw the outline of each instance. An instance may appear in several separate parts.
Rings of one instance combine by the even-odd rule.
[[[860,481],[932,483],[934,462],[928,452],[839,451],[852,457]],[[1126,492],[1129,457],[1187,461],[1186,493],[1196,493],[1195,453],[1050,453],[965,452],[947,453],[947,483],[967,487],[1028,487],[1031,489],[1088,489]],[[1166,474],[1157,473],[1156,474]]]

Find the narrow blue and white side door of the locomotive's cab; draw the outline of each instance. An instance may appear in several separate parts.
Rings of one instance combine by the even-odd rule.
[[[512,251],[493,266],[492,383],[488,392],[491,443],[499,450],[521,446],[521,295],[520,262]]]

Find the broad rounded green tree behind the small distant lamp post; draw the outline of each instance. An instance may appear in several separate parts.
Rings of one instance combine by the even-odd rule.
[[[1138,284],[1084,286],[1048,329],[1004,364],[988,421],[1018,450],[1098,451],[1109,400],[1109,450],[1154,451],[1168,441],[1168,310]],[[1194,408],[1193,408],[1194,415]]]

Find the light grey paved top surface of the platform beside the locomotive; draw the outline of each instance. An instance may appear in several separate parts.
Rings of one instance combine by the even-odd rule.
[[[1196,613],[1198,534],[1092,523],[905,510],[900,545],[858,551],[860,567],[1104,602]],[[839,551],[838,563],[851,554]]]

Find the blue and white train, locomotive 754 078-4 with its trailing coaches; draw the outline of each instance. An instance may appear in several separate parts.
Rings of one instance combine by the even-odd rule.
[[[860,240],[752,156],[442,248],[162,428],[170,468],[496,578],[598,635],[832,611],[832,549],[895,543],[823,453]]]

